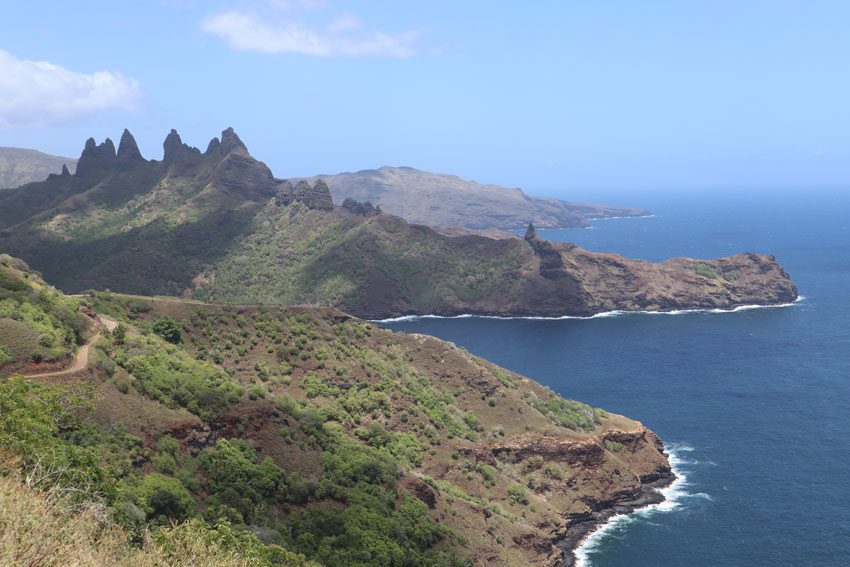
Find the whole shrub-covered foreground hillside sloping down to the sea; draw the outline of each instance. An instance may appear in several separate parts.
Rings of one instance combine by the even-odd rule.
[[[48,564],[79,546],[116,564],[553,564],[572,526],[671,478],[641,424],[435,338],[332,308],[67,301],[120,323],[87,369],[0,365],[0,499],[67,530],[23,533]]]

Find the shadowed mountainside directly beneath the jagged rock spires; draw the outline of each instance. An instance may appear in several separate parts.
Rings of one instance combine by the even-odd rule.
[[[183,175],[151,162],[34,184],[0,207],[4,248],[62,289],[182,293],[258,208],[210,184],[211,167]]]

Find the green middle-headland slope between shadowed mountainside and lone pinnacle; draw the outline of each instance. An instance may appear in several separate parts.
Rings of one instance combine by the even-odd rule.
[[[497,296],[513,301],[533,263],[518,240],[448,238],[389,215],[364,219],[269,204],[253,232],[210,267],[214,277],[195,296],[430,312]],[[516,277],[506,278],[511,272]]]

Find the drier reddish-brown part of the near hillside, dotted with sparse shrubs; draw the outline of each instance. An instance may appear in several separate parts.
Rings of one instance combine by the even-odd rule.
[[[332,309],[143,301],[107,295],[95,305],[142,330],[163,314],[181,321],[186,348],[227,368],[248,398],[206,426],[175,420],[168,432],[188,443],[209,435],[205,427],[213,437],[238,432],[321,485],[323,437],[341,431],[395,462],[395,490],[432,503],[430,516],[455,534],[445,543],[479,562],[543,561],[564,513],[586,513],[588,503],[628,492],[637,476],[664,466],[639,438],[639,424],[566,402],[437,339],[390,333]],[[130,394],[111,398],[147,391],[130,383]],[[112,419],[121,418],[105,421]],[[143,430],[124,419],[129,431]],[[640,435],[611,450],[604,439],[623,431]]]

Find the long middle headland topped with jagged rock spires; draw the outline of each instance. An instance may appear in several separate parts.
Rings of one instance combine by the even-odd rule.
[[[124,131],[86,142],[75,174],[0,192],[0,249],[70,292],[318,304],[367,318],[464,313],[589,316],[793,301],[775,258],[662,263],[525,238],[449,237],[276,178],[232,129],[206,151],[172,130],[162,160]]]

